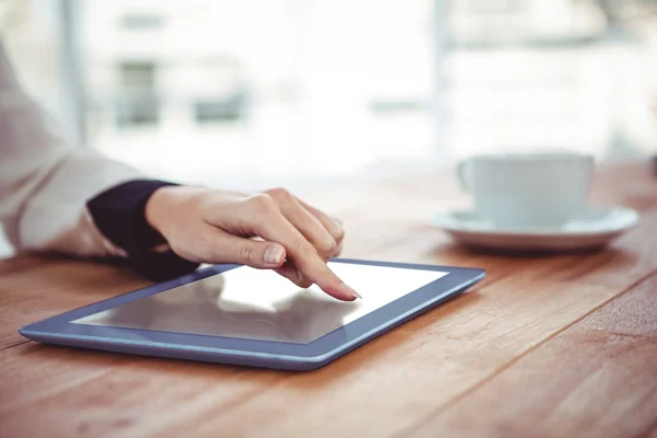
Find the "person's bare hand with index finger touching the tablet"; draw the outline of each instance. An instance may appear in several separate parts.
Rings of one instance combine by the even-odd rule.
[[[162,187],[149,198],[146,219],[189,261],[270,268],[302,288],[316,284],[339,300],[360,298],[326,266],[341,252],[342,224],[284,188],[246,195]]]

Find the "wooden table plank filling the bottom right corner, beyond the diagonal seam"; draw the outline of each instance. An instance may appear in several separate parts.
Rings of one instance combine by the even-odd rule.
[[[653,276],[468,396],[431,413],[413,436],[655,434],[656,302]]]

